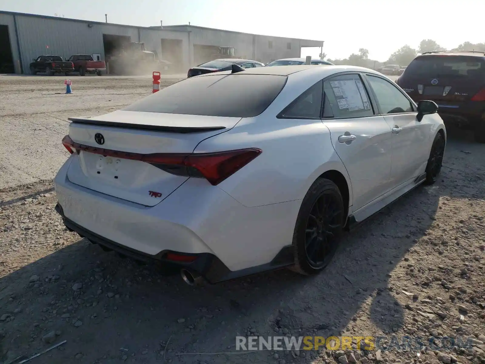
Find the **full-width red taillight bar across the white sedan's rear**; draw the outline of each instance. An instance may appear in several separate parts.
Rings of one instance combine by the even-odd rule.
[[[248,148],[215,153],[140,154],[81,145],[74,143],[69,135],[64,137],[63,145],[71,153],[76,150],[84,150],[114,158],[142,161],[177,176],[205,178],[213,186],[236,173],[262,152],[261,149]]]

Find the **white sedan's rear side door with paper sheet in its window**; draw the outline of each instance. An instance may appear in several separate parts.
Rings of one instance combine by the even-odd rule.
[[[325,79],[323,88],[323,123],[349,173],[356,211],[390,189],[391,128],[374,112],[359,74]]]

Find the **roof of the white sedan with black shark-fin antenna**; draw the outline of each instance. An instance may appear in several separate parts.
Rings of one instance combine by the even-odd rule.
[[[322,78],[328,77],[335,73],[340,73],[340,72],[366,72],[366,73],[376,74],[382,77],[381,73],[374,71],[373,69],[370,69],[370,68],[357,67],[357,66],[330,66],[330,65],[325,67],[315,67],[312,65],[255,67],[255,68],[246,68],[244,71],[241,71],[241,72],[244,74],[277,75],[277,76],[289,76],[292,73],[296,73],[296,72],[305,72],[305,73],[308,73],[308,75],[310,75],[310,72],[312,72],[312,74],[318,75],[318,77],[322,77]],[[221,74],[229,75],[231,74],[231,71],[208,73],[205,75],[195,76],[195,77],[210,77],[213,75],[221,75]]]

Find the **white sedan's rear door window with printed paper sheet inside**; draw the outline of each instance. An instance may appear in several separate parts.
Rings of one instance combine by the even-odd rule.
[[[325,80],[323,117],[373,116],[372,104],[359,75],[341,75]],[[331,107],[330,110],[326,110]]]

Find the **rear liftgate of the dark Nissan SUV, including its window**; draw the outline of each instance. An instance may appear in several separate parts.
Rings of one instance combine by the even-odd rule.
[[[484,57],[423,55],[399,78],[399,86],[415,101],[433,100],[443,111],[459,111],[485,85]]]

